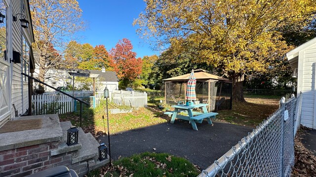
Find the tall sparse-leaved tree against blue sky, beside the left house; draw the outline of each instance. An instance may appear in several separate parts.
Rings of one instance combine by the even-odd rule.
[[[81,9],[77,0],[30,0],[32,22],[35,35],[34,51],[39,54],[36,59],[39,65],[40,81],[44,81],[45,72],[64,63],[60,63],[64,55],[65,46],[74,33],[83,28]],[[52,56],[51,45],[61,54],[58,58]],[[54,52],[54,51],[53,51]]]

